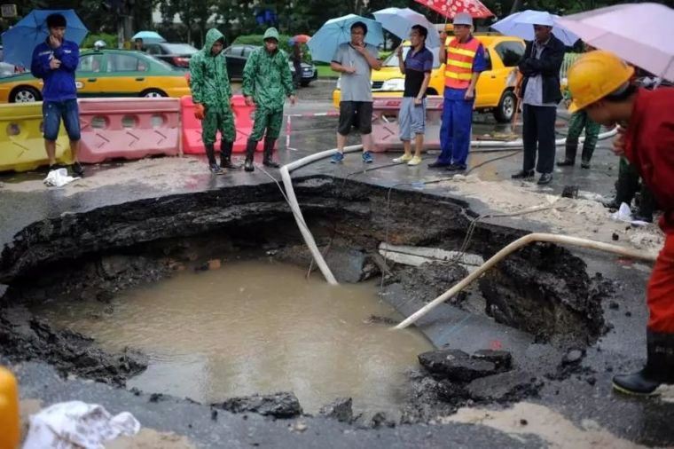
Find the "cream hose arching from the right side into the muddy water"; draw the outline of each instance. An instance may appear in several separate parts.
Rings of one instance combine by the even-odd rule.
[[[432,311],[438,304],[444,303],[448,299],[450,299],[453,295],[458,294],[461,290],[464,288],[468,287],[471,282],[474,280],[478,279],[480,276],[482,276],[482,273],[486,272],[489,270],[492,266],[495,264],[498,264],[498,262],[503,259],[505,256],[510,255],[513,253],[513,251],[516,251],[520,249],[521,247],[524,247],[526,245],[529,245],[529,243],[535,242],[535,241],[546,241],[550,243],[559,243],[562,245],[573,245],[576,247],[582,247],[582,248],[591,248],[591,249],[597,249],[600,251],[606,251],[608,253],[613,253],[618,256],[624,256],[624,257],[630,257],[632,259],[641,259],[641,260],[646,260],[649,262],[653,262],[655,260],[655,256],[649,253],[646,253],[644,251],[638,251],[636,249],[631,249],[631,248],[623,248],[619,247],[616,245],[611,245],[609,243],[602,243],[600,241],[594,241],[594,240],[587,240],[587,239],[581,239],[578,237],[570,237],[568,235],[557,235],[557,234],[549,234],[549,233],[543,233],[543,232],[533,232],[530,233],[529,235],[525,235],[524,237],[521,237],[520,239],[514,240],[511,242],[509,245],[505,246],[505,248],[501,249],[496,253],[494,256],[491,256],[491,258],[482,264],[480,268],[475,270],[474,272],[470,273],[469,275],[464,278],[464,280],[461,280],[456,284],[454,287],[450,288],[446,292],[444,292],[442,295],[436,297],[433,301],[430,303],[427,303],[425,306],[419,309],[419,311],[415,311],[413,314],[411,314],[410,317],[407,319],[404,319],[402,323],[397,325],[396,327],[393,327],[394,329],[404,329],[405,327],[410,326],[411,324],[415,323],[417,320],[419,320],[421,317],[426,315],[429,311]]]

